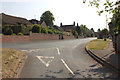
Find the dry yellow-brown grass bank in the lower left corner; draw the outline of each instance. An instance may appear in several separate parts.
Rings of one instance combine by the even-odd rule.
[[[2,78],[14,78],[25,59],[25,53],[14,49],[2,49]],[[20,69],[20,68],[19,68]],[[18,72],[17,72],[18,71]]]

